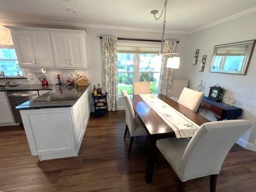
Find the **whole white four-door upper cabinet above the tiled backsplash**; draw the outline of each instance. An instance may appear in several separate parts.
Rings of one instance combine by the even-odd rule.
[[[87,68],[85,31],[5,26],[22,68]]]

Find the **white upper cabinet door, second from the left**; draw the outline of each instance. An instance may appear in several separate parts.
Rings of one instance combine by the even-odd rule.
[[[37,67],[54,67],[50,33],[31,31]]]

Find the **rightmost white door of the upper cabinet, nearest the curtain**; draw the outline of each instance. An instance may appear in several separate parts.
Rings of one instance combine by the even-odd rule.
[[[67,34],[68,53],[70,58],[70,67],[84,67],[84,45],[82,45],[83,34]]]

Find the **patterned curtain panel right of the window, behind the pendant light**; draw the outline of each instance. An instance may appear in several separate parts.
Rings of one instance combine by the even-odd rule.
[[[163,53],[175,53],[176,45],[177,45],[176,40],[164,40]],[[166,67],[168,58],[169,56],[165,56],[165,55],[162,58],[158,92],[163,95],[166,95],[167,97],[171,97],[173,69]]]

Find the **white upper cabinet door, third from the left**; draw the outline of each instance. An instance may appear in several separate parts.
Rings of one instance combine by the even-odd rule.
[[[66,33],[50,33],[55,67],[70,67]]]

